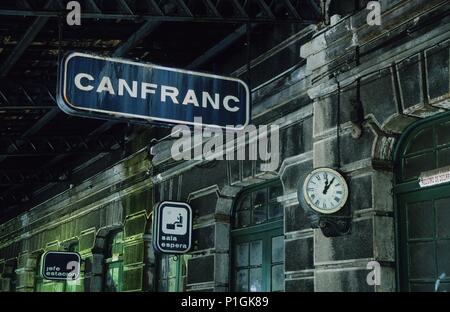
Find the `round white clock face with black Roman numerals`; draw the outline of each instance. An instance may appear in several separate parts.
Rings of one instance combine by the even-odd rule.
[[[348,186],[344,177],[337,171],[319,168],[306,177],[303,194],[312,209],[331,214],[340,210],[347,202]]]

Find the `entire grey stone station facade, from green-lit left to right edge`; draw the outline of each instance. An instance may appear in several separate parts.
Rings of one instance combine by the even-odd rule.
[[[147,149],[137,152],[2,224],[1,289],[33,290],[42,252],[77,241],[83,289],[100,291],[108,234],[123,229],[124,290],[155,290],[152,207],[179,200],[194,211],[186,290],[228,291],[235,200],[249,186],[280,179],[286,291],[395,291],[393,153],[409,125],[450,108],[450,4],[380,2],[381,26],[366,23],[365,9],[346,15],[354,8],[334,7],[342,16],[333,18],[333,25],[295,31],[255,56],[254,73],[273,73],[253,86],[252,116],[257,125],[281,128],[277,170],[262,173],[255,161],[173,163],[171,141],[159,142],[152,155]],[[286,65],[283,55],[293,66],[280,74],[274,68]],[[229,61],[235,64],[236,58]],[[244,67],[232,68],[234,75],[245,76]],[[348,235],[327,238],[311,229],[299,206],[299,179],[324,166],[348,178]],[[381,284],[371,286],[366,266],[374,260],[381,264]],[[58,287],[44,284],[47,290]]]

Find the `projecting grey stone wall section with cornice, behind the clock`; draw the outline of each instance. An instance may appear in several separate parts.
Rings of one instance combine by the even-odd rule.
[[[301,49],[313,81],[314,167],[349,178],[353,216],[350,235],[314,231],[315,291],[396,290],[393,148],[408,125],[448,108],[448,1],[380,2],[381,26],[362,10]],[[373,260],[381,284],[370,286]]]

